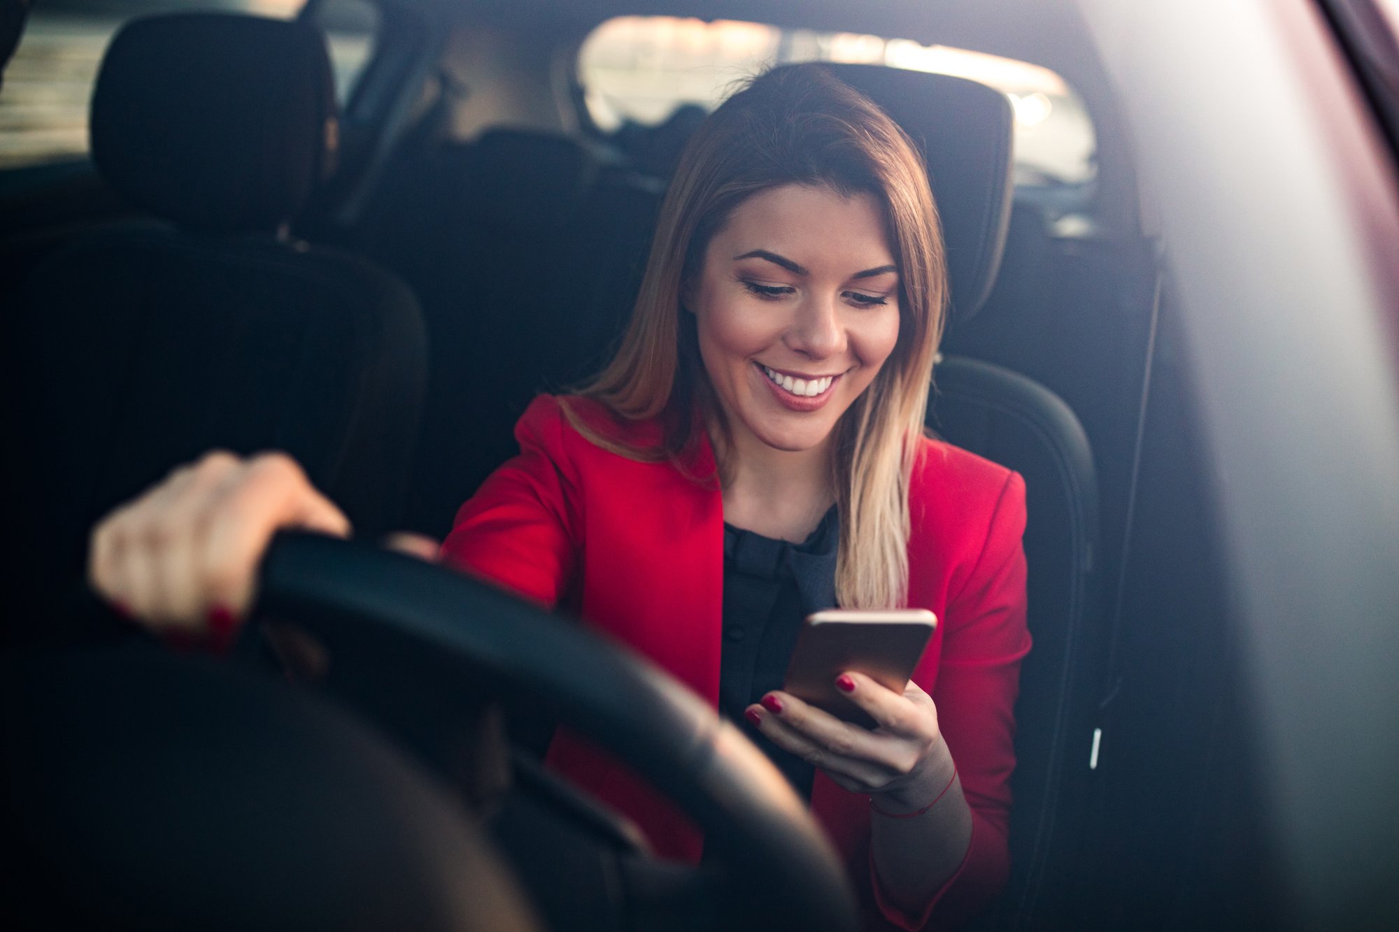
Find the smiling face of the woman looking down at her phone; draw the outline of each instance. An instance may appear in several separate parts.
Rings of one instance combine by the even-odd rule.
[[[748,197],[686,298],[740,451],[823,446],[898,341],[898,273],[866,193],[783,185]]]

